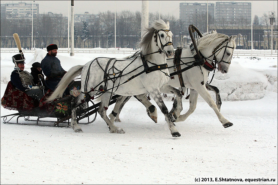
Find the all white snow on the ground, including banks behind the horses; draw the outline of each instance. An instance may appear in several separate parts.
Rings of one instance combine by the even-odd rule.
[[[1,53],[1,97],[15,54]],[[25,69],[30,71],[45,55],[40,49],[25,53]],[[57,55],[65,70],[99,56]],[[179,138],[171,136],[160,110],[155,124],[135,98],[116,123],[125,134],[109,133],[99,115],[92,124],[81,125],[84,133],[1,121],[1,184],[277,184],[277,76],[277,57],[233,58],[229,72],[217,72],[212,85],[220,90],[221,114],[234,125],[223,128],[199,98],[195,112],[176,123]],[[169,96],[164,98],[168,109]],[[188,106],[183,99],[182,114]],[[1,116],[13,113],[1,107]]]

